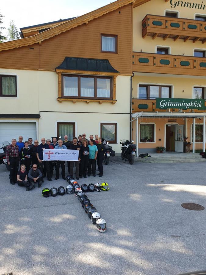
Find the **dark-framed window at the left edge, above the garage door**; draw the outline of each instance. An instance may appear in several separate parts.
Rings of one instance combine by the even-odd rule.
[[[16,76],[0,75],[0,96],[16,97]]]

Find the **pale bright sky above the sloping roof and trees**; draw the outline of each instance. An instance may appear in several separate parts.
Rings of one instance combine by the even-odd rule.
[[[4,16],[1,27],[8,28],[9,21],[14,20],[18,31],[20,28],[46,22],[66,19],[89,13],[107,5],[114,0],[7,0],[1,1],[0,13]],[[6,35],[7,31],[3,32]]]

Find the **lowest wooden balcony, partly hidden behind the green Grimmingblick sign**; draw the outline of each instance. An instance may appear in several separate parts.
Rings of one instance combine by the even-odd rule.
[[[206,101],[204,103],[206,106]],[[170,108],[170,112],[179,112],[180,109],[173,109]],[[191,112],[196,112],[196,113],[203,113],[205,112],[204,110],[197,110],[197,109],[187,109],[184,110],[183,112],[191,113]],[[136,112],[169,112],[169,109],[158,109],[156,108],[156,99],[138,99],[133,97],[132,98],[132,113]]]

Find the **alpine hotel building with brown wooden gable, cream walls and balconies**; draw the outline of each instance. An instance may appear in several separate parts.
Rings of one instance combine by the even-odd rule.
[[[0,145],[98,134],[205,151],[206,1],[117,0],[0,44]],[[43,21],[43,20],[42,20]]]

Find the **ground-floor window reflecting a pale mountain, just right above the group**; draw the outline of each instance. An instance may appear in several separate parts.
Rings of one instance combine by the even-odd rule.
[[[117,123],[101,123],[101,137],[109,143],[117,143]]]

